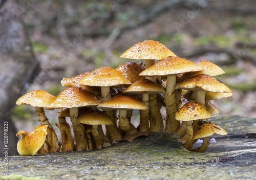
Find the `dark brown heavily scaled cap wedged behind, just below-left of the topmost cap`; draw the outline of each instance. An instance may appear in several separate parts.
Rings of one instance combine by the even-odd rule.
[[[139,75],[143,70],[145,70],[145,64],[138,62],[126,62],[116,68],[116,71],[120,72],[131,83],[144,79]]]

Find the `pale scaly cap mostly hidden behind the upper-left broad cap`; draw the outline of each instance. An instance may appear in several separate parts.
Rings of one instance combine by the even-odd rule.
[[[60,83],[62,86],[65,86],[65,87],[72,87],[72,86],[82,87],[82,88],[86,89],[86,91],[88,91],[88,92],[94,92],[94,93],[100,94],[100,87],[82,85],[82,84],[78,83],[80,81],[80,79],[82,79],[84,76],[88,75],[89,73],[90,72],[88,71],[88,72],[79,74],[77,76],[74,76],[72,78],[63,78],[60,81]]]

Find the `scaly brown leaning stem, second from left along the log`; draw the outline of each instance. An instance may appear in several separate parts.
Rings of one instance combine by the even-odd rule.
[[[62,152],[75,151],[75,144],[72,140],[70,125],[66,122],[65,117],[58,116],[59,123],[55,123],[59,128],[61,135]]]

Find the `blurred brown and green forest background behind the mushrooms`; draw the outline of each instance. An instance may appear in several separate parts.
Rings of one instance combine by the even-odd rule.
[[[233,96],[212,101],[220,115],[256,117],[252,0],[0,2],[0,132],[7,119],[17,130],[39,125],[33,107],[15,105],[22,94],[43,89],[56,96],[63,77],[100,66],[116,68],[129,61],[119,56],[145,39],[158,40],[191,61],[205,59],[221,66],[226,73],[217,78]],[[46,114],[55,124],[56,111]]]

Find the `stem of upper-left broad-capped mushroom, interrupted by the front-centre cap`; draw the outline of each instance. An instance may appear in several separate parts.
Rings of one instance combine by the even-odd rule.
[[[102,86],[101,87],[101,98],[102,101],[109,100],[111,98],[110,94],[110,86]],[[118,129],[116,125],[116,120],[114,116],[113,110],[106,111],[106,115],[112,119],[112,121],[115,123],[114,125],[106,125],[106,133],[108,133],[108,136],[110,138],[111,143],[117,143],[118,141],[122,140],[122,135],[120,130]]]

